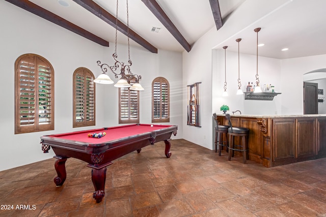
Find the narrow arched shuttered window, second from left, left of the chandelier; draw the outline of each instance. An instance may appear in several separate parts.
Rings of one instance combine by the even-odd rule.
[[[95,126],[95,79],[86,68],[73,73],[73,127]]]

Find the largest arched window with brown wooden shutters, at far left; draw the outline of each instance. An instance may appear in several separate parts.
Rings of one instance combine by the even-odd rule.
[[[54,130],[54,71],[42,56],[15,62],[15,134]]]

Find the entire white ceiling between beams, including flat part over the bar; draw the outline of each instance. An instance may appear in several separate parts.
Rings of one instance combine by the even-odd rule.
[[[114,46],[116,0],[5,1],[102,46]],[[267,6],[269,0],[260,1],[266,1]],[[252,26],[230,33],[225,40],[216,42],[214,48],[222,49],[228,45],[228,50],[237,52],[235,39],[242,38],[241,52],[255,54],[253,42],[256,35],[253,29],[262,27],[259,32],[259,38],[265,44],[259,50],[262,56],[282,59],[325,54],[326,1],[277,1],[285,4],[280,4],[282,7],[271,10]],[[67,4],[68,7],[59,3]],[[249,6],[250,10],[239,15],[243,5]],[[129,0],[130,45],[141,46],[153,53],[157,49],[189,52],[192,45],[212,28],[219,33],[223,25],[223,30],[227,32],[230,26],[226,20],[229,17],[237,15],[241,22],[241,16],[246,18],[260,10],[255,5],[257,0]],[[126,44],[125,0],[119,1],[118,19],[118,43]],[[152,32],[153,29],[156,31]],[[282,52],[284,47],[289,50]]]

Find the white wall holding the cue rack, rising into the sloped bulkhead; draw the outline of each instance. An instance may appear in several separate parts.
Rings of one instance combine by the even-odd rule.
[[[246,1],[242,5],[240,5],[240,7],[237,8],[237,10],[235,10],[227,19],[225,19],[225,24],[224,26],[222,26],[222,28],[216,31],[216,27],[212,26],[212,28],[204,36],[202,36],[199,40],[195,42],[190,52],[188,53],[185,51],[183,52],[182,55],[183,110],[182,111],[183,111],[183,138],[184,139],[199,144],[203,147],[213,149],[212,113],[216,112],[216,108],[220,107],[221,103],[223,103],[224,101],[222,101],[221,99],[219,100],[218,92],[216,91],[216,89],[221,90],[223,88],[223,85],[221,86],[221,83],[215,80],[221,77],[219,77],[215,73],[212,73],[214,67],[215,68],[221,67],[221,66],[216,66],[215,63],[212,61],[213,57],[218,56],[218,54],[216,55],[214,54],[215,51],[213,51],[212,48],[226,41],[230,37],[235,37],[237,34],[241,33],[241,31],[245,28],[251,27],[252,29],[254,29],[255,27],[257,27],[255,25],[257,20],[261,19],[266,14],[270,13],[271,11],[274,11],[275,9],[286,4],[287,2],[288,2],[287,0]],[[248,13],[249,11],[250,13]],[[225,29],[225,26],[228,26],[228,29]],[[234,38],[234,40],[235,39],[236,38]],[[223,46],[224,45],[222,45],[221,47]],[[254,72],[256,72],[256,70],[254,70]],[[202,100],[201,100],[202,128],[186,125],[187,123],[186,85],[192,84],[194,82],[202,82]],[[246,81],[246,79],[243,79],[243,82],[248,82],[248,81]],[[224,83],[224,79],[222,83]],[[214,89],[212,87],[214,87]],[[238,101],[238,99],[236,99],[235,101]],[[236,106],[234,106],[234,108],[236,108]],[[275,109],[278,109],[278,106],[276,106]]]

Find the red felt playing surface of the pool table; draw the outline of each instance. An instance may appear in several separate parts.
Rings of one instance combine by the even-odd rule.
[[[141,134],[151,133],[153,131],[157,132],[159,130],[172,127],[172,125],[152,125],[152,126],[153,127],[147,124],[124,125],[118,127],[99,128],[99,129],[93,129],[87,131],[55,134],[55,135],[49,135],[48,137],[85,142],[88,144],[99,144],[99,143],[112,142],[126,137],[139,136]],[[106,133],[106,135],[101,138],[88,137],[88,134],[104,133],[104,132]]]

